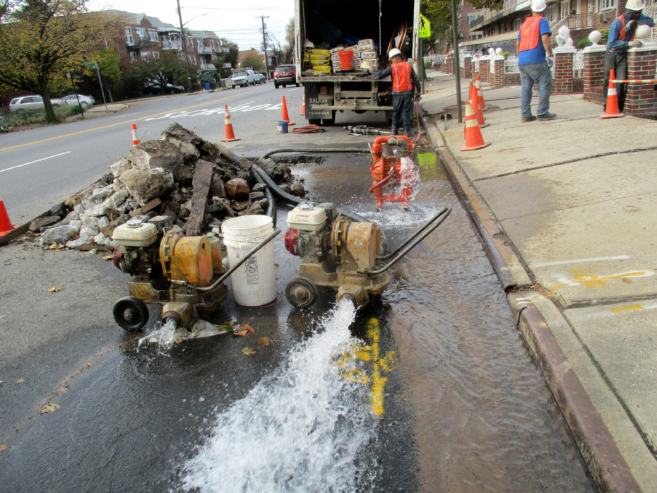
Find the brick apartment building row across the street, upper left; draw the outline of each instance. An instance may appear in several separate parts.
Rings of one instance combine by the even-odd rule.
[[[160,51],[164,50],[173,50],[179,57],[184,57],[179,27],[145,13],[117,10],[103,12],[108,16],[119,17],[124,23],[119,37],[112,40],[119,54],[119,66],[122,70],[128,69],[133,61],[159,57]],[[212,60],[228,52],[228,48],[222,46],[215,32],[185,29],[184,35],[187,42],[187,59],[201,71],[214,69]]]

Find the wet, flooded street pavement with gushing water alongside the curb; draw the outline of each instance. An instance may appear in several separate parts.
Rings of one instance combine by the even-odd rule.
[[[239,307],[229,295],[213,320],[254,334],[169,348],[124,335],[57,394],[55,412],[17,427],[1,489],[595,491],[468,216],[430,149],[420,154],[408,211],[376,212],[367,154],[292,168],[309,199],[378,222],[391,249],[453,208],[380,300],[356,311],[323,291],[292,308],[280,294],[299,258],[282,233],[278,302]],[[279,205],[283,232],[290,208]]]

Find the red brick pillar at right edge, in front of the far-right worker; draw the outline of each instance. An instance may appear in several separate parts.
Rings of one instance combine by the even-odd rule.
[[[627,78],[655,78],[657,48],[647,47],[629,50],[627,55]],[[657,116],[657,92],[654,83],[626,85],[625,112],[634,117]]]

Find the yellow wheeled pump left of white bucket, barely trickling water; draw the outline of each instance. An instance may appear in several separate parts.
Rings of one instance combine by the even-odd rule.
[[[132,275],[129,296],[114,304],[114,320],[126,331],[148,322],[146,303],[162,305],[162,321],[191,331],[199,315],[215,311],[227,296],[223,281],[280,230],[226,271],[217,237],[186,237],[167,216],[134,218],[114,229],[114,266]]]

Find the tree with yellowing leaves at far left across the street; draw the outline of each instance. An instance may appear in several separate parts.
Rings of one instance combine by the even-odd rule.
[[[103,30],[115,27],[115,20],[85,13],[85,1],[17,0],[2,17],[0,83],[42,95],[48,121],[57,119],[50,91],[66,87],[66,72],[81,68]]]

